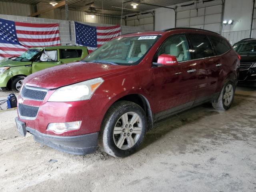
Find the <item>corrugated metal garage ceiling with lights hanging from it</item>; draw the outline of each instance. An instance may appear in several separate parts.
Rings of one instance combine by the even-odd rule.
[[[1,0],[6,2],[16,2],[36,5],[39,2],[49,3],[49,0]],[[61,0],[59,0],[60,2]],[[127,0],[124,0],[126,2]],[[138,0],[134,0],[137,2]],[[189,2],[191,0],[140,0],[140,2],[147,4],[154,4],[158,6],[172,6],[179,3]],[[123,15],[143,12],[151,9],[158,8],[157,6],[149,6],[145,4],[139,4],[136,9],[133,9],[131,6],[132,2],[124,3]],[[68,8],[70,10],[79,10],[89,12],[89,7],[95,7],[96,13],[102,14],[102,4],[103,4],[103,13],[110,15],[120,16],[122,13],[122,0],[68,0]],[[119,7],[119,8],[117,8]],[[128,10],[129,9],[129,10]]]

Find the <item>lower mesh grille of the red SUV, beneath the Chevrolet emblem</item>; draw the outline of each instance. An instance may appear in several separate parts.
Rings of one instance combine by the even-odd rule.
[[[39,107],[19,104],[18,111],[20,118],[22,119],[35,119],[38,113]]]

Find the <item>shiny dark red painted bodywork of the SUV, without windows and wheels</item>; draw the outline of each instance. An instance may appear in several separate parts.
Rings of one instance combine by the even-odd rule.
[[[161,35],[161,37],[135,66],[76,62],[48,68],[28,76],[24,80],[27,86],[52,90],[48,91],[42,102],[21,98],[19,95],[19,103],[39,106],[35,120],[20,120],[25,122],[26,126],[44,134],[58,136],[89,134],[100,130],[108,108],[123,96],[129,94],[144,96],[152,114],[157,114],[219,92],[226,78],[237,80],[239,59],[232,48],[221,56],[178,62],[174,65],[153,66],[153,57],[164,40],[173,34],[186,32],[218,36],[211,32],[185,29],[127,34],[124,36]],[[216,67],[218,63],[222,64],[219,68]],[[193,69],[196,71],[188,72]],[[104,82],[90,100],[47,101],[56,88],[98,77],[101,77]],[[82,121],[79,130],[63,134],[46,130],[49,123],[73,121]]]

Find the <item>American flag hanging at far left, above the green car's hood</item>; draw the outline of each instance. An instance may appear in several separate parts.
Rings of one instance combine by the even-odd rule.
[[[30,47],[60,45],[59,24],[0,19],[0,59],[19,56]]]

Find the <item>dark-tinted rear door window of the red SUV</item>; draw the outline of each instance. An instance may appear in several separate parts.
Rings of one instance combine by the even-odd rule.
[[[214,56],[212,44],[206,35],[188,34],[194,59],[206,58]]]

